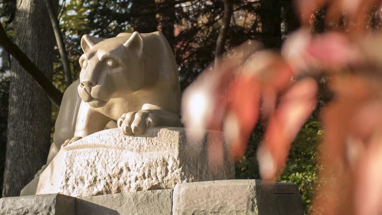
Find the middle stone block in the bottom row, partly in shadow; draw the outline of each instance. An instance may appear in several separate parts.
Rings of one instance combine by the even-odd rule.
[[[172,189],[125,192],[76,199],[77,215],[171,215],[171,207]],[[114,212],[105,209],[112,209]]]

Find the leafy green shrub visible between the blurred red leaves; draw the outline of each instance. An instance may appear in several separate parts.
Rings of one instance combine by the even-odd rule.
[[[236,164],[236,179],[260,178],[256,151],[263,133],[260,125],[252,133],[244,157]],[[320,122],[315,118],[309,119],[292,143],[285,170],[277,179],[280,182],[297,184],[302,195],[305,214],[310,211],[310,202],[317,184],[317,145],[321,137]]]

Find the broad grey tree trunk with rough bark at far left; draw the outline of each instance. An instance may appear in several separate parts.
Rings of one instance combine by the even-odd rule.
[[[13,26],[15,43],[51,80],[55,41],[44,1],[17,0]],[[50,144],[51,103],[45,92],[15,60],[11,63],[9,91],[2,195],[17,196],[46,163]]]

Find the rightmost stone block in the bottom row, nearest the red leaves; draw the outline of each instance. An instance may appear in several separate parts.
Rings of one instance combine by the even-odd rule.
[[[172,213],[302,215],[303,209],[296,185],[223,180],[176,185]]]

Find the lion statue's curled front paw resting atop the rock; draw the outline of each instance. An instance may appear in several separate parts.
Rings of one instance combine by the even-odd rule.
[[[156,124],[155,115],[147,110],[129,112],[122,114],[118,119],[117,124],[123,134],[142,134],[147,127],[153,127]]]

